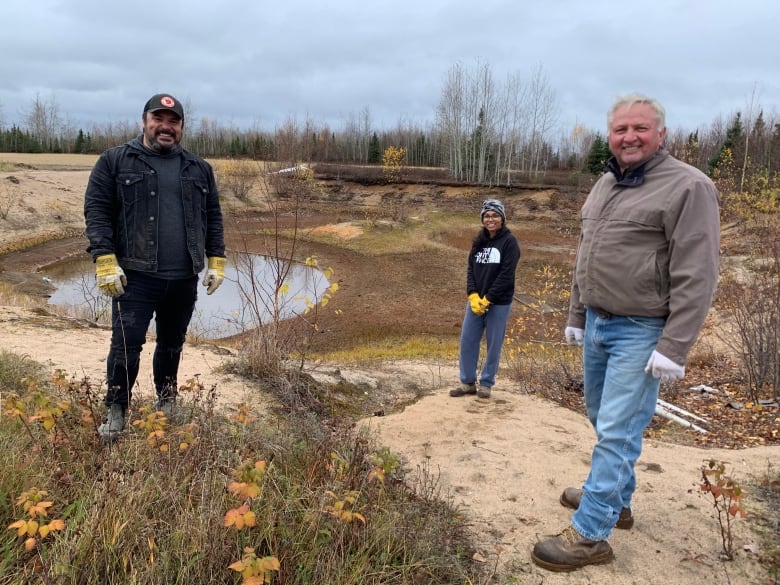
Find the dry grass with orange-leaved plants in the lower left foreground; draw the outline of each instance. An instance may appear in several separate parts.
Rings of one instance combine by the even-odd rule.
[[[180,388],[170,420],[134,403],[123,436],[106,446],[97,389],[39,373],[0,353],[0,381],[26,380],[4,396],[0,522],[27,519],[13,502],[38,489],[51,502],[39,520],[63,528],[36,534],[28,551],[0,532],[3,585],[237,583],[230,567],[247,551],[276,562],[267,582],[280,585],[480,581],[463,518],[435,475],[405,477],[354,425],[247,404],[218,412],[214,389],[195,383]]]

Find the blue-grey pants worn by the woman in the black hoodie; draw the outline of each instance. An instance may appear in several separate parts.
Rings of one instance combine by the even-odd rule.
[[[512,305],[490,305],[484,315],[475,315],[466,303],[463,328],[460,332],[460,381],[474,384],[477,381],[477,364],[482,335],[487,342],[487,354],[479,375],[479,385],[492,388],[496,384],[496,372],[501,361],[506,324]]]

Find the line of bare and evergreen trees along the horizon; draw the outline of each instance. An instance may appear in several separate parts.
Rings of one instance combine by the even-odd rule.
[[[340,128],[287,119],[273,130],[225,127],[202,117],[187,120],[184,142],[206,158],[249,158],[294,164],[327,162],[381,165],[388,148],[402,148],[405,164],[444,167],[454,180],[509,185],[513,177],[534,180],[551,172],[599,174],[609,157],[605,136],[583,125],[558,127],[555,91],[543,69],[530,80],[495,79],[488,64],[453,65],[433,122],[399,122],[379,129],[368,108],[351,114]],[[21,125],[0,119],[0,151],[97,154],[126,142],[139,124],[108,123],[89,129],[64,121],[52,98],[33,100]],[[667,148],[710,176],[726,175],[732,188],[780,187],[780,119],[758,104],[728,118],[718,117],[693,132],[669,129]]]

